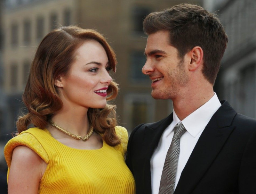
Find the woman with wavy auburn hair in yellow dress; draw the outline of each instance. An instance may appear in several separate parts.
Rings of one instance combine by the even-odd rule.
[[[118,93],[109,75],[115,65],[94,30],[68,26],[46,35],[23,94],[28,113],[5,146],[9,194],[134,193],[127,131],[106,103]]]

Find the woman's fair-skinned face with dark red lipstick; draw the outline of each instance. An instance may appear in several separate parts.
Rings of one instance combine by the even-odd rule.
[[[59,76],[55,85],[63,106],[103,108],[106,106],[106,90],[112,81],[106,51],[95,40],[84,42],[75,52],[75,61],[68,75]]]

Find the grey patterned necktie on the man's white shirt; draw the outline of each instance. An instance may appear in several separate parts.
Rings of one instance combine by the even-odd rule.
[[[174,127],[173,141],[168,149],[163,165],[162,177],[159,187],[159,194],[173,194],[174,184],[179,159],[179,138],[186,132],[182,123]]]

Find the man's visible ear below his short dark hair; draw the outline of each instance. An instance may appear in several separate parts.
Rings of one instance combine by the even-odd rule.
[[[195,71],[203,64],[203,49],[201,47],[194,47],[189,51],[190,64],[189,70]]]

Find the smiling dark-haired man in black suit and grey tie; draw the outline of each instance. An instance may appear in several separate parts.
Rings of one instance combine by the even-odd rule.
[[[142,72],[173,113],[130,135],[126,163],[137,194],[255,194],[256,120],[213,91],[227,44],[216,15],[181,4],[149,14],[143,28]]]

